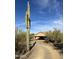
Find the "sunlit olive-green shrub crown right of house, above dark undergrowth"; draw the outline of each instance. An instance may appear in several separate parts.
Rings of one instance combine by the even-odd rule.
[[[55,43],[63,42],[63,33],[56,28],[54,29],[54,31],[49,31],[47,33],[47,37],[51,42],[55,42]]]

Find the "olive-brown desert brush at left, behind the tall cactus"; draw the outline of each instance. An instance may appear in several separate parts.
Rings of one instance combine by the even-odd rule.
[[[30,40],[34,36],[33,33],[30,34]],[[22,31],[21,29],[15,30],[15,54],[24,54],[27,52],[26,49],[26,32]]]

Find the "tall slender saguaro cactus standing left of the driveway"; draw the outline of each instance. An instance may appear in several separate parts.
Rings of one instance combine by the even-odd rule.
[[[27,11],[26,11],[26,46],[27,46],[27,51],[30,50],[30,3],[29,0],[27,1]]]

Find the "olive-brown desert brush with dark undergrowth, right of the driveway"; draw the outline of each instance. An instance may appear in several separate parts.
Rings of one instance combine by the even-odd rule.
[[[54,28],[54,31],[49,31],[47,33],[48,41],[53,43],[56,49],[60,49],[63,53],[63,32],[59,29]]]

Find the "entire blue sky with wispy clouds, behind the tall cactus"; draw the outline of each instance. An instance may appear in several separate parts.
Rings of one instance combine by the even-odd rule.
[[[15,23],[26,31],[25,15],[27,0],[15,0]],[[49,31],[58,28],[63,31],[63,0],[30,0],[31,32]]]

